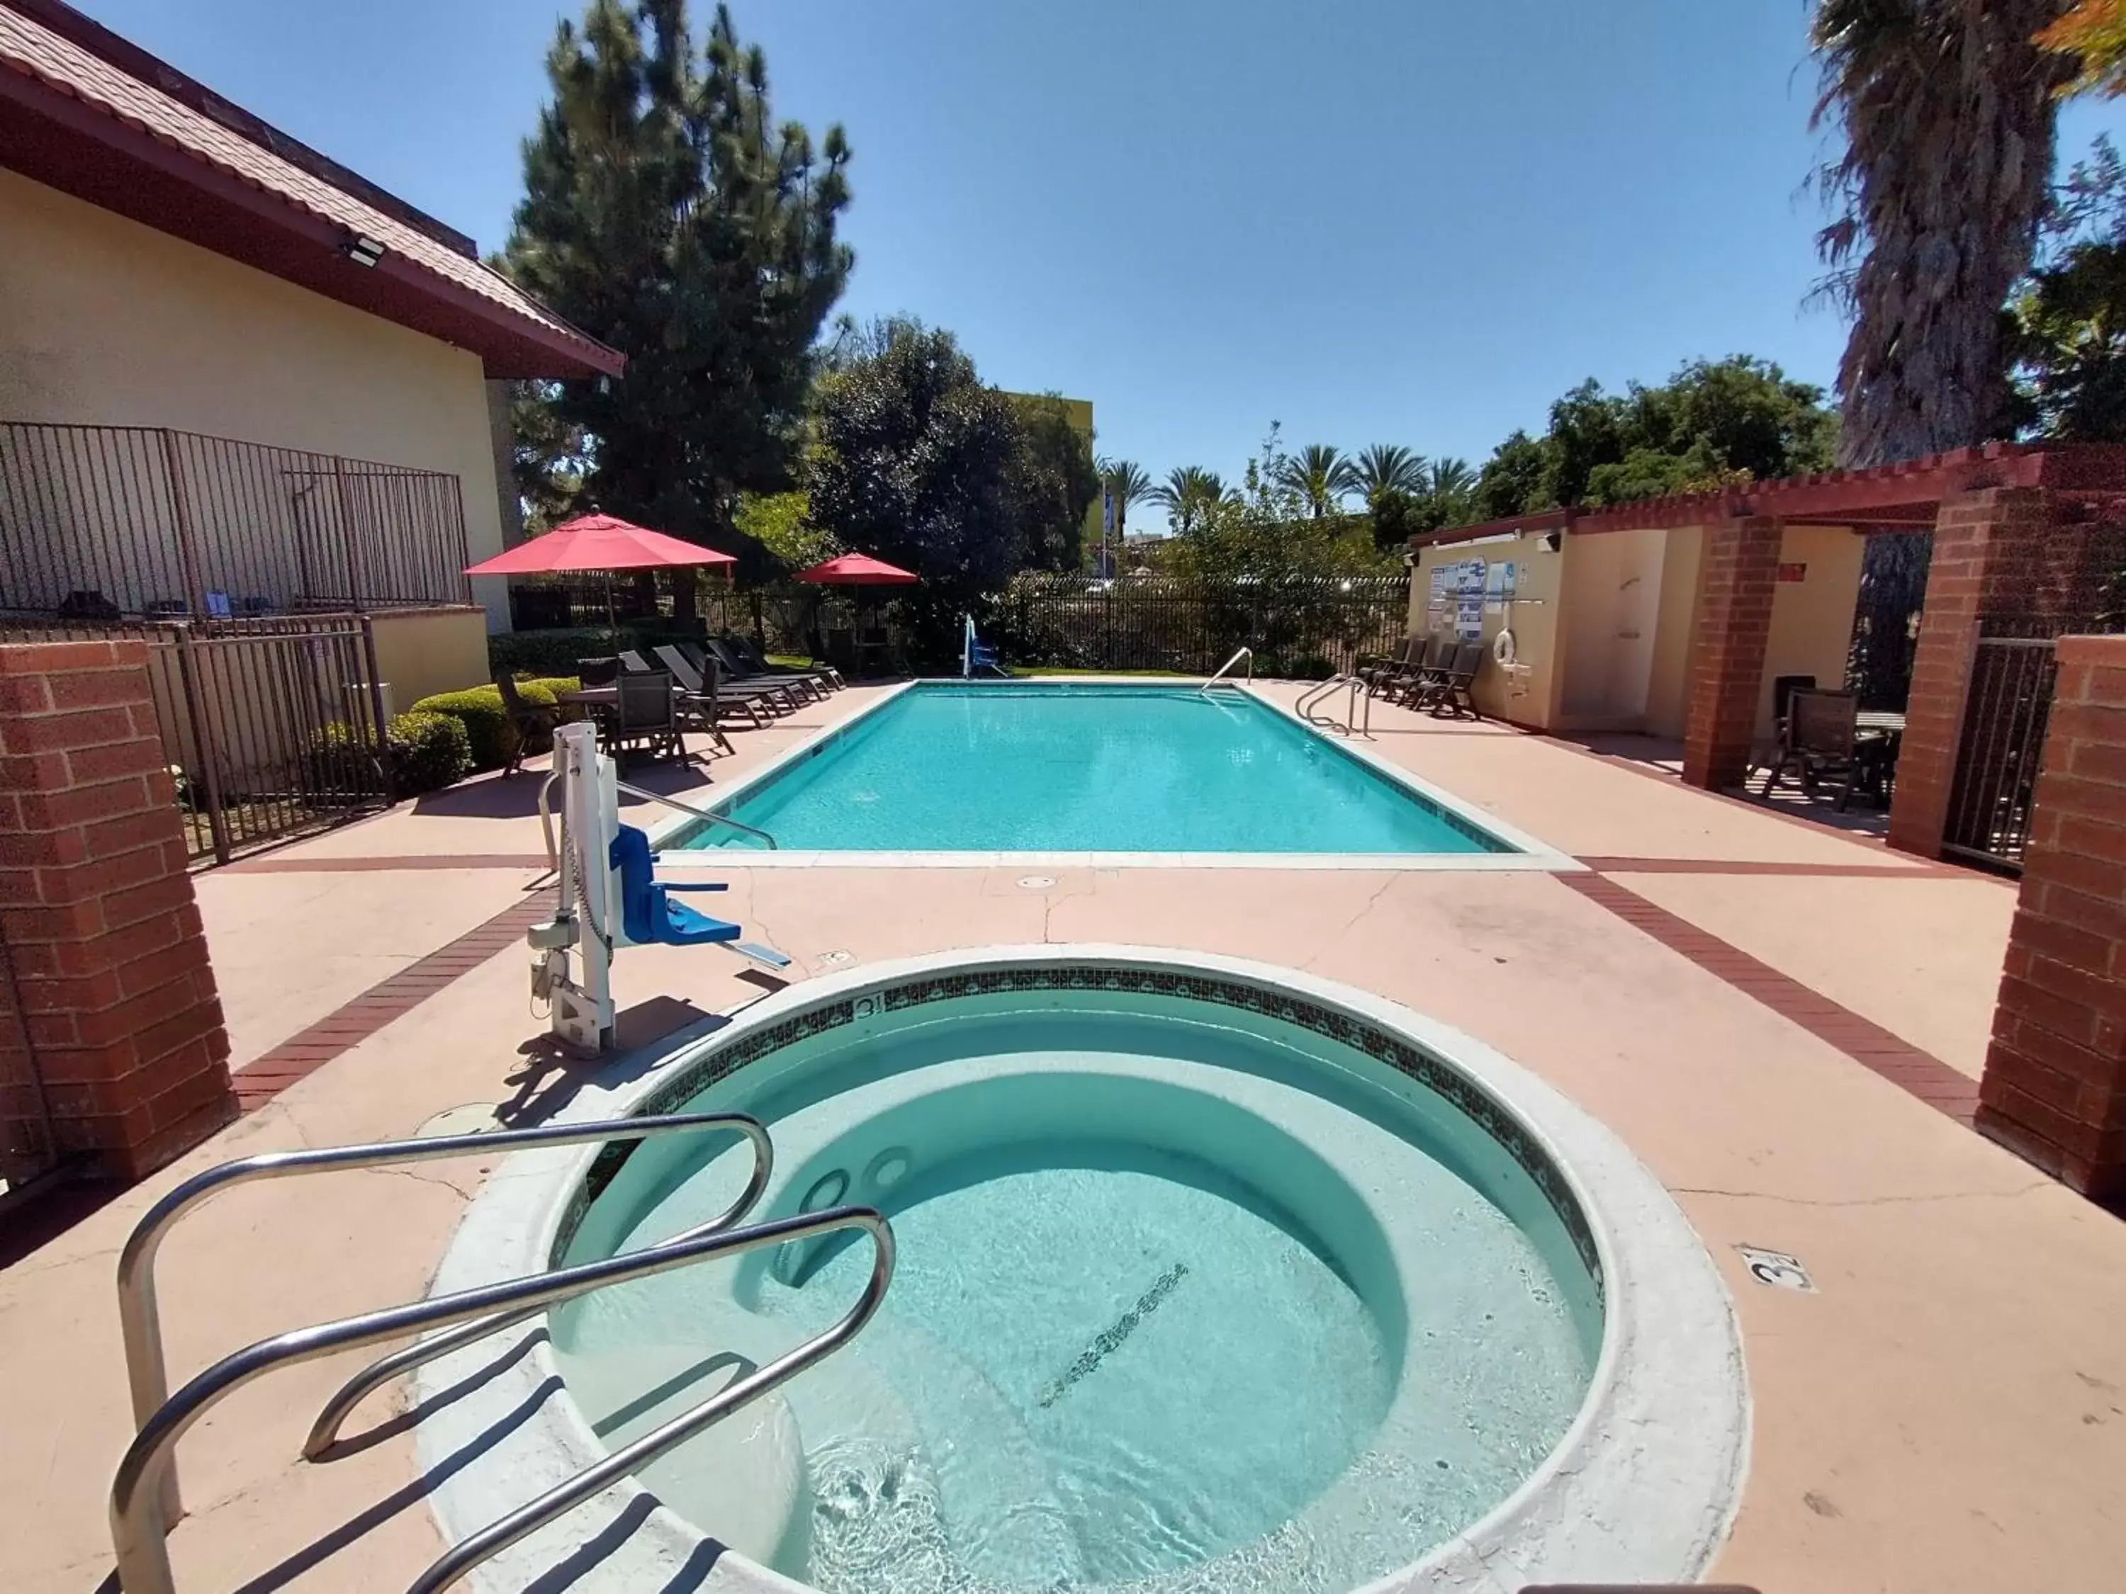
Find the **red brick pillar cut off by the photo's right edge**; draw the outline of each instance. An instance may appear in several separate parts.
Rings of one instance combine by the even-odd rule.
[[[2060,638],[1977,1126],[2126,1201],[2126,638]]]

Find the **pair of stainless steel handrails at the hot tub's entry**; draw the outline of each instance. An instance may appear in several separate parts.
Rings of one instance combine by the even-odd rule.
[[[223,1356],[176,1394],[170,1394],[162,1347],[162,1318],[155,1307],[155,1252],[179,1218],[232,1184],[283,1180],[298,1173],[330,1173],[336,1169],[429,1163],[444,1156],[480,1156],[514,1148],[597,1146],[604,1141],[644,1141],[708,1131],[733,1131],[753,1143],[753,1177],[738,1201],[723,1216],[706,1224],[638,1252],[578,1262],[574,1267],[555,1267],[529,1277],[483,1284],[453,1294],[429,1296],[427,1301],[412,1301],[402,1307],[385,1307],[383,1311],[364,1311],[310,1328],[291,1328]],[[699,1112],[619,1118],[595,1124],[542,1124],[538,1129],[504,1129],[478,1135],[378,1141],[370,1146],[264,1152],[191,1175],[149,1207],[119,1252],[119,1324],[125,1335],[125,1377],[132,1388],[134,1422],[138,1424],[138,1432],[119,1460],[117,1477],[111,1483],[111,1541],[117,1551],[119,1588],[123,1594],[176,1594],[170,1573],[170,1549],[164,1543],[170,1528],[183,1515],[176,1490],[176,1460],[172,1456],[174,1445],[223,1396],[289,1362],[308,1362],[340,1350],[376,1345],[421,1328],[442,1328],[442,1333],[389,1352],[355,1373],[355,1377],[325,1401],[325,1409],[310,1424],[310,1435],[302,1445],[304,1460],[323,1462],[334,1458],[332,1449],[338,1441],[340,1424],[347,1422],[366,1394],[436,1356],[527,1322],[551,1305],[602,1290],[608,1284],[627,1284],[629,1279],[670,1273],[693,1262],[742,1256],[744,1252],[804,1241],[840,1228],[861,1228],[872,1237],[872,1277],[865,1282],[857,1305],[838,1324],[774,1362],[727,1384],[699,1405],[621,1445],[604,1460],[557,1483],[529,1505],[521,1505],[500,1522],[453,1545],[408,1588],[408,1594],[440,1594],[440,1590],[457,1583],[480,1562],[840,1350],[855,1339],[857,1330],[872,1320],[887,1299],[887,1286],[893,1279],[893,1228],[870,1207],[827,1207],[825,1211],[738,1226],[767,1190],[772,1169],[774,1146],[759,1120],[736,1112]]]

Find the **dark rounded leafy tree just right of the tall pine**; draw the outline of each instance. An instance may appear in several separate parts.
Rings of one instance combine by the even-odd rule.
[[[812,525],[921,576],[897,597],[916,648],[948,655],[959,614],[1029,563],[1027,527],[1048,512],[1025,506],[1018,410],[950,332],[889,321],[819,380],[812,431]]]

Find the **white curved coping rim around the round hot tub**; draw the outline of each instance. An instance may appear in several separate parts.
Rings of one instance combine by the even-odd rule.
[[[1735,1309],[1705,1243],[1652,1171],[1597,1118],[1505,1054],[1401,1003],[1295,969],[1171,948],[938,952],[791,986],[663,1058],[617,1058],[606,1071],[612,1084],[589,1082],[555,1122],[625,1116],[704,1054],[823,1003],[948,971],[1037,965],[1208,973],[1299,995],[1399,1033],[1512,1116],[1580,1205],[1605,1279],[1603,1347],[1580,1413],[1541,1466],[1490,1513],[1354,1594],[1694,1581],[1711,1564],[1739,1509],[1752,1413]],[[432,1292],[542,1271],[597,1154],[587,1148],[506,1158],[468,1207]],[[604,1454],[576,1405],[553,1398],[561,1390],[544,1318],[419,1371],[415,1405],[429,1411],[417,1430],[419,1454],[446,1539],[463,1539]],[[523,1588],[561,1560],[580,1568],[570,1585],[587,1594],[810,1594],[714,1545],[634,1479],[510,1547],[474,1581],[495,1592]]]

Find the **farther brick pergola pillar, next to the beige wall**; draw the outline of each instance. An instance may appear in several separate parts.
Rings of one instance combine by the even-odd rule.
[[[1777,580],[1779,521],[1756,514],[1705,531],[1684,729],[1684,780],[1692,786],[1739,786],[1750,771]]]

